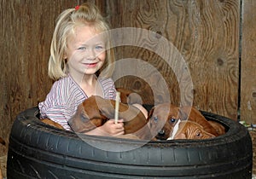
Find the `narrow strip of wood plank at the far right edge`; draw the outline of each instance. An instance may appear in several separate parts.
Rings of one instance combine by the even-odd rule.
[[[242,1],[241,120],[256,124],[256,2]]]

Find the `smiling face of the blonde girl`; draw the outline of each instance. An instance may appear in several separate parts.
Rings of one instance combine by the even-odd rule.
[[[106,42],[97,34],[94,26],[77,26],[67,38],[65,58],[71,76],[92,75],[103,66]]]

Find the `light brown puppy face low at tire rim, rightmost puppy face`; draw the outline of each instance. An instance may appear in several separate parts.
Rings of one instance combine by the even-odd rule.
[[[209,139],[215,137],[194,121],[181,121],[173,139]]]

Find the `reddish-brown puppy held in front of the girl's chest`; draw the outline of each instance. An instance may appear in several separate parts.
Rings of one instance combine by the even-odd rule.
[[[75,132],[86,132],[104,124],[108,118],[114,118],[115,101],[92,95],[79,105],[77,112],[68,121]],[[140,130],[148,121],[143,113],[132,105],[119,103],[119,118],[124,119],[125,134]]]

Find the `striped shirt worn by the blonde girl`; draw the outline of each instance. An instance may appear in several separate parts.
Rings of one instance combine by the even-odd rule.
[[[102,87],[103,97],[105,99],[115,99],[116,90],[112,78],[98,78],[98,83]],[[81,89],[73,78],[68,75],[56,81],[45,101],[38,104],[40,110],[40,118],[50,118],[58,124],[61,124],[64,129],[71,130],[67,124],[76,110],[88,96]]]

